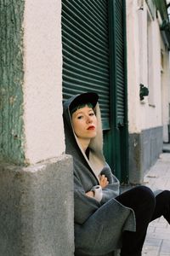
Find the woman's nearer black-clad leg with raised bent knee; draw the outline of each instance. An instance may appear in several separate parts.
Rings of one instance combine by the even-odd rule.
[[[136,232],[123,232],[121,256],[141,256],[147,227],[155,210],[155,195],[149,188],[139,186],[117,196],[116,200],[132,208],[136,217]]]

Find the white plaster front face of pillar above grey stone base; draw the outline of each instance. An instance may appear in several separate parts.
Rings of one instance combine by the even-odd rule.
[[[65,151],[61,1],[26,1],[24,27],[26,162],[34,164]]]

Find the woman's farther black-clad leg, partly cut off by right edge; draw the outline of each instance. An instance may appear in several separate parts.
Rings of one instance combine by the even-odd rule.
[[[156,208],[151,218],[151,221],[163,216],[170,224],[170,191],[163,190],[160,194],[156,195]]]

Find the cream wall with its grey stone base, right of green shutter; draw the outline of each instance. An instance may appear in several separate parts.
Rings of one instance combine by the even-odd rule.
[[[164,22],[169,24],[165,1],[127,1],[130,183],[142,183],[168,142],[169,29]]]

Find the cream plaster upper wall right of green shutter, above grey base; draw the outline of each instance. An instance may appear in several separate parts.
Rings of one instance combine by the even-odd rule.
[[[127,81],[129,132],[161,125],[161,42],[158,21],[150,17],[144,2],[127,1]],[[152,19],[150,63],[148,61],[148,16]],[[150,73],[149,73],[150,70]],[[150,76],[150,84],[149,84]],[[149,96],[139,99],[139,84],[149,88]]]

